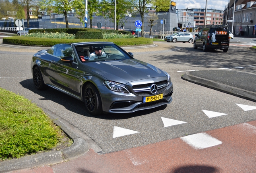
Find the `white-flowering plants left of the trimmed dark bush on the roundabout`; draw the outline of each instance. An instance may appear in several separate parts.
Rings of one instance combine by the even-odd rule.
[[[65,32],[62,32],[62,33],[59,33],[59,32],[56,32],[56,33],[39,33],[39,32],[36,32],[36,33],[31,33],[31,34],[28,34],[28,36],[30,37],[39,37],[39,38],[66,38],[66,39],[74,39],[74,34],[67,34]]]

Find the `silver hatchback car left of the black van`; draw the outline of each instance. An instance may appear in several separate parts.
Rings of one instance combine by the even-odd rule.
[[[169,36],[165,36],[167,42],[189,42],[192,43],[194,36],[188,32],[177,32]]]

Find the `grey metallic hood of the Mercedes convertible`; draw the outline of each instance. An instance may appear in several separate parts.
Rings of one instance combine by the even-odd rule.
[[[87,62],[83,63],[83,67],[107,80],[123,84],[134,80],[166,76],[165,72],[159,68],[136,59]]]

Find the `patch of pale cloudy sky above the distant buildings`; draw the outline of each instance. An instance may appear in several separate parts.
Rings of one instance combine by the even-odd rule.
[[[176,9],[205,8],[206,0],[172,0]],[[207,9],[224,10],[229,0],[207,0]]]

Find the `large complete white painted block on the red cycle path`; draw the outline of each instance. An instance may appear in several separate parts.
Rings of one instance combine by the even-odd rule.
[[[184,142],[193,147],[194,149],[204,149],[222,144],[218,139],[211,137],[207,133],[197,133],[186,137],[181,137]]]

